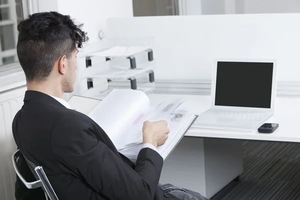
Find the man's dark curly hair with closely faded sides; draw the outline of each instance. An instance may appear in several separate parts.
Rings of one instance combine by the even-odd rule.
[[[22,20],[18,26],[17,56],[27,81],[44,81],[55,61],[81,48],[88,40],[82,24],[76,25],[69,15],[39,12]]]

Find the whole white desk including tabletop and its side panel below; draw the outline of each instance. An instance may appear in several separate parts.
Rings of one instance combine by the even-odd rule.
[[[177,96],[185,98],[194,114],[210,107],[208,95],[149,95],[151,101]],[[300,98],[276,98],[275,109],[269,122],[279,123],[279,127],[271,134],[190,128],[165,160],[160,182],[210,198],[242,172],[242,140],[300,142],[300,133],[293,128],[300,120]]]

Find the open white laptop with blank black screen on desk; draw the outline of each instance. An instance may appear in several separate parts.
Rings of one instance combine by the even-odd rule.
[[[211,107],[193,127],[256,130],[274,113],[276,76],[273,59],[215,60]]]

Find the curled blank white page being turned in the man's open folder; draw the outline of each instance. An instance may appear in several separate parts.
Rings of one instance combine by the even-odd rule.
[[[134,138],[132,127],[143,120],[149,110],[149,98],[139,90],[113,89],[89,114],[109,136],[117,149]]]

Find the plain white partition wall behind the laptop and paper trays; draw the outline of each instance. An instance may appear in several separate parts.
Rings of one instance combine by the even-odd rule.
[[[276,58],[278,81],[299,81],[300,14],[124,17],[109,37],[155,38],[157,79],[210,79],[214,58]]]

